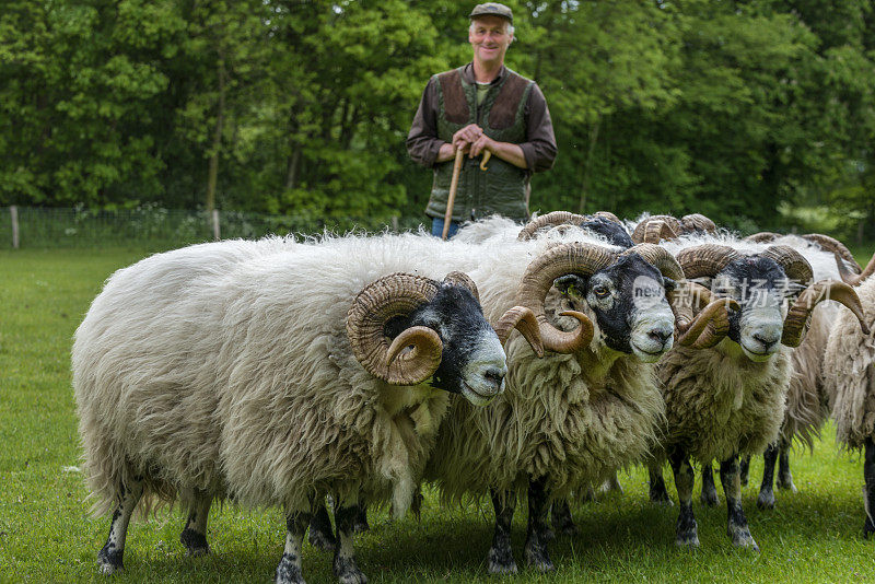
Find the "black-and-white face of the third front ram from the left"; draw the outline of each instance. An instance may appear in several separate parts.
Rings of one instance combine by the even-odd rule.
[[[730,315],[728,337],[751,361],[767,361],[780,350],[791,290],[784,270],[759,256],[730,262],[711,283],[712,293],[738,301],[742,309]]]

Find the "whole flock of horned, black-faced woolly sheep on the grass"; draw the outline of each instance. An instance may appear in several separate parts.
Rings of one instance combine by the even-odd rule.
[[[527,493],[523,557],[574,530],[568,498],[646,465],[676,541],[698,546],[693,469],[736,546],[758,504],[793,489],[788,448],[832,414],[865,449],[875,532],[875,259],[824,235],[740,238],[702,215],[621,222],[555,212],[491,218],[443,242],[425,233],[210,243],[112,276],[75,334],[73,386],[97,558],[122,568],[138,506],[178,504],[180,541],[207,553],[214,500],[281,505],[278,583],[302,583],[303,538],[364,583],[353,535],[369,505],[396,516],[432,482],[445,501],[489,494],[487,562],[514,573],[511,521]],[[821,302],[831,300],[836,302]],[[843,305],[843,306],[842,306]],[[325,506],[334,501],[335,529]]]

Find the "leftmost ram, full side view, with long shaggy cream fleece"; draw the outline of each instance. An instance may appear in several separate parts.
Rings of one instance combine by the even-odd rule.
[[[303,530],[330,492],[335,573],[365,582],[350,509],[404,512],[447,392],[482,406],[505,387],[477,290],[444,278],[445,256],[389,237],[230,241],[113,275],[72,350],[83,472],[94,511],[115,510],[101,571],[122,567],[138,503],[187,509],[180,540],[197,556],[212,500],[232,499],[284,507],[276,581],[302,583]]]

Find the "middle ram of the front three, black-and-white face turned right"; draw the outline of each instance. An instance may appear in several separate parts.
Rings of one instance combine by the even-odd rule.
[[[573,343],[572,353],[548,353],[542,360],[512,337],[505,347],[508,390],[489,412],[452,400],[425,477],[438,483],[445,499],[491,494],[495,533],[488,568],[493,573],[516,571],[510,525],[516,492],[528,489],[525,558],[538,570],[549,570],[549,502],[634,463],[655,440],[663,402],[648,363],[672,346],[674,316],[665,289],[682,273],[655,246],[623,253],[581,231],[514,242],[508,238],[510,230],[483,237],[488,230],[477,229],[478,257],[500,258],[488,264],[480,259],[480,268],[469,270],[487,318],[493,322],[523,304],[540,311],[542,326],[561,330],[578,324],[579,317],[567,316],[570,312],[583,313],[592,332]],[[466,240],[465,231],[457,237]],[[530,256],[534,249],[547,249],[545,256],[580,254],[586,260],[570,269],[513,259]],[[521,278],[529,289],[517,296]],[[559,289],[551,289],[555,280]],[[538,300],[530,302],[526,296],[533,289]],[[634,299],[635,290],[646,292],[649,302],[635,303],[641,300]],[[541,335],[547,348],[550,335]],[[574,334],[561,336],[567,344],[569,335]],[[459,472],[463,468],[470,471]]]

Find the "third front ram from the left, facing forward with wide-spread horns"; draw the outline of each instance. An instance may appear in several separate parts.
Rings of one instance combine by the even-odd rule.
[[[742,509],[738,455],[761,453],[777,439],[791,348],[802,341],[812,309],[827,297],[839,301],[865,328],[860,300],[842,282],[803,288],[812,280],[812,267],[788,246],[751,255],[716,244],[678,246],[675,255],[685,276],[705,284],[714,297],[736,302],[738,309],[732,312],[728,326],[700,337],[698,350],[679,342],[657,366],[666,424],[654,454],[657,460],[667,459],[675,474],[680,503],[676,544],[699,545],[690,458],[704,464],[718,459],[733,545],[759,549]],[[785,309],[788,292],[793,302]],[[651,497],[667,499],[658,465],[651,466]]]

